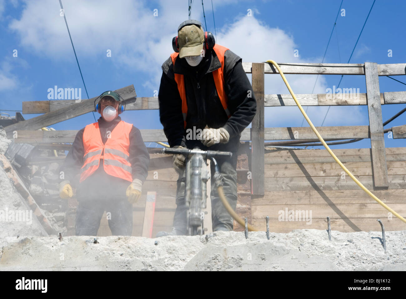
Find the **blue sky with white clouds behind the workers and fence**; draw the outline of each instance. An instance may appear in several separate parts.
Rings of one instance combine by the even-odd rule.
[[[344,0],[325,63],[347,63],[373,0]],[[207,30],[214,33],[212,2],[203,1]],[[280,63],[320,63],[341,0],[234,1],[213,0],[218,44],[227,46],[245,62],[267,59]],[[160,65],[172,51],[177,26],[188,19],[187,1],[73,1],[63,6],[90,97],[108,89],[134,84],[138,96],[153,96],[159,89]],[[158,16],[154,16],[157,9]],[[248,16],[248,9],[252,15]],[[406,2],[377,0],[350,63],[405,63],[404,13]],[[156,14],[156,13],[155,13]],[[192,2],[192,18],[204,24],[201,1]],[[48,88],[84,86],[57,0],[0,0],[0,111],[20,110],[22,101],[48,100]],[[13,50],[18,56],[13,57]],[[111,57],[106,51],[111,50]],[[299,57],[294,57],[294,50]],[[393,56],[388,57],[388,50]],[[248,75],[251,79],[251,76]],[[406,76],[395,79],[406,83]],[[287,75],[296,94],[310,94],[315,75]],[[319,76],[313,93],[338,85],[339,75]],[[404,91],[406,86],[380,76],[380,92]],[[279,75],[266,75],[266,94],[287,94]],[[365,76],[344,76],[340,87],[365,93]],[[383,105],[383,119],[406,107]],[[309,107],[316,126],[327,107]],[[14,115],[14,112],[11,112]],[[406,114],[405,114],[406,115]],[[34,117],[26,114],[26,119]],[[99,117],[95,113],[96,118]],[[139,129],[161,129],[158,110],[126,111],[123,120]],[[81,129],[94,122],[92,113],[52,125],[57,130]],[[266,127],[300,127],[297,107],[267,107]],[[366,106],[333,106],[324,126],[367,125]],[[406,124],[400,116],[387,127]],[[305,122],[303,124],[307,126]],[[385,127],[385,128],[387,128]],[[406,146],[389,139],[387,147]],[[369,140],[332,148],[369,148]]]

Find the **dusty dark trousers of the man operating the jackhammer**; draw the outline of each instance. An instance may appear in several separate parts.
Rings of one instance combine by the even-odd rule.
[[[237,206],[237,153],[233,153],[231,158],[216,158],[220,173],[223,177],[224,195],[233,208]],[[218,196],[217,188],[214,185],[214,166],[211,163],[211,193],[212,201],[212,227],[213,231],[232,231],[233,218],[229,215],[223,206],[220,197]],[[185,170],[179,174],[176,190],[176,210],[173,217],[173,227],[176,229],[177,235],[186,235],[187,227],[187,210],[185,205],[185,187],[186,177]]]

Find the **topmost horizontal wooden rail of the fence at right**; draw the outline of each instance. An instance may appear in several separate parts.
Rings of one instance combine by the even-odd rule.
[[[284,74],[364,75],[363,63],[278,63]],[[244,71],[251,74],[253,63],[243,62]],[[378,64],[378,76],[404,75],[406,63]],[[265,64],[265,74],[278,74],[274,65]]]

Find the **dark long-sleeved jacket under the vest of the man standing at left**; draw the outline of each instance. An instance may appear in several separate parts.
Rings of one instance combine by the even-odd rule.
[[[102,117],[98,119],[103,144],[107,141],[107,131],[112,132],[120,121],[120,117],[111,122],[106,122]],[[78,197],[117,196],[124,198],[125,190],[130,185],[130,182],[106,174],[103,163],[100,163],[99,168],[90,177],[79,183],[80,168],[83,166],[84,155],[83,132],[84,128],[76,134],[65,162],[60,167],[60,171],[63,171],[65,176],[61,181],[69,180],[71,185],[77,188]],[[148,175],[149,153],[143,142],[140,130],[133,126],[129,137],[129,161],[132,167],[132,177],[144,182]]]

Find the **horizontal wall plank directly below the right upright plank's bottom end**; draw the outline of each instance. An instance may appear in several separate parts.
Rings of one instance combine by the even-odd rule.
[[[406,190],[375,190],[374,194],[384,203],[405,203]],[[297,205],[320,203],[376,203],[364,190],[294,190],[266,191],[263,197],[253,198],[251,205]]]

